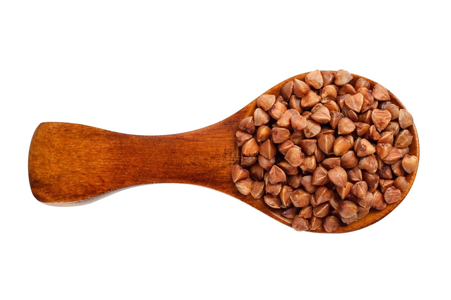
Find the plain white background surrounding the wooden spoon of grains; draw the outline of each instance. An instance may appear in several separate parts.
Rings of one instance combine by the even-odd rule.
[[[0,298],[449,299],[444,1],[155,2],[0,1]],[[368,228],[299,233],[181,184],[78,207],[30,192],[28,146],[42,121],[195,130],[315,69],[378,81],[414,116],[414,186]]]

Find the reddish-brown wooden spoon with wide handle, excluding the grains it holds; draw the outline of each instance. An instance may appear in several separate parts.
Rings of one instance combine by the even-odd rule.
[[[295,78],[304,80],[307,74],[282,81],[264,94],[277,97],[286,82]],[[362,76],[353,77],[351,84]],[[372,87],[377,84],[365,79]],[[405,108],[395,95],[389,94],[392,103]],[[291,220],[283,217],[280,209],[272,209],[262,199],[239,193],[230,176],[231,167],[240,161],[235,139],[238,123],[252,116],[256,108],[257,99],[214,125],[157,136],[123,134],[71,123],[41,123],[33,134],[28,156],[32,193],[48,205],[76,206],[141,184],[196,184],[229,194],[291,226]],[[419,158],[415,125],[409,131],[413,135],[409,154]],[[361,229],[388,215],[407,195],[416,173],[417,170],[406,176],[409,188],[402,193],[400,201],[388,204],[383,210],[371,210],[363,219],[342,225],[333,233]],[[314,232],[325,230],[321,227]]]

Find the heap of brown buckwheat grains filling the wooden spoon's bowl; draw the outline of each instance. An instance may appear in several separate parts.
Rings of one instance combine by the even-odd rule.
[[[400,200],[404,176],[418,166],[408,154],[410,113],[382,85],[351,82],[344,70],[310,72],[278,97],[261,95],[253,116],[239,122],[233,182],[281,209],[295,230],[332,232],[384,209]]]

